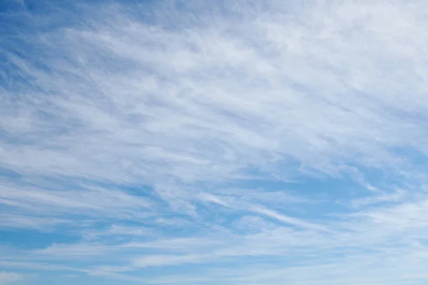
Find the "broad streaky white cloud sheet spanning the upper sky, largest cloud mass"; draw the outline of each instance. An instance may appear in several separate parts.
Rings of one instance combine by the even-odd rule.
[[[25,166],[27,172],[109,180],[153,180],[161,167],[165,175],[193,181],[238,175],[238,170],[253,164],[275,170],[278,163],[286,167],[295,162],[303,169],[334,173],[345,162],[383,167],[397,163],[399,157],[387,146],[408,145],[410,138],[423,141],[424,130],[410,124],[413,112],[397,114],[397,95],[389,90],[381,95],[377,86],[392,88],[382,83],[397,82],[394,78],[399,76],[394,70],[383,73],[384,61],[414,60],[404,53],[409,48],[403,38],[409,26],[382,31],[385,27],[375,17],[377,6],[364,6],[345,19],[342,15],[353,5],[319,6],[317,17],[307,26],[320,25],[322,33],[298,26],[297,20],[272,21],[275,4],[271,4],[270,14],[250,17],[245,26],[231,26],[233,19],[225,16],[228,33],[215,26],[169,31],[123,17],[105,23],[93,16],[100,21],[94,28],[44,34],[44,41],[35,38],[37,46],[49,48],[53,55],[38,54],[37,60],[46,59],[57,80],[49,81],[52,76],[31,61],[16,56],[9,61],[25,72],[23,76],[38,78],[36,86],[41,90],[61,95],[36,95],[32,90],[32,98],[37,98],[33,108],[26,108],[25,100],[36,99],[25,94],[23,102],[10,103],[4,128],[10,136],[18,135],[21,129],[11,128],[10,120],[26,110],[28,115],[19,118],[38,127],[39,132],[29,134],[38,144],[5,143],[4,164],[16,171],[24,171]],[[384,17],[397,13],[392,4],[382,9]],[[407,13],[413,9],[403,5]],[[296,17],[314,11],[300,11]],[[406,15],[400,19],[411,25],[413,20]],[[370,19],[365,25],[375,28],[352,26],[364,16]],[[248,38],[248,29],[260,36],[259,45]],[[384,32],[397,44],[384,43]],[[376,48],[366,51],[355,44],[363,36],[367,46]],[[418,47],[412,56],[417,56]],[[384,58],[372,62],[372,53],[382,48],[388,51]],[[342,71],[345,66],[347,73]],[[325,72],[326,67],[330,72]],[[357,78],[362,83],[352,87]],[[419,83],[420,89],[423,84]],[[372,96],[370,100],[361,90]],[[340,95],[344,92],[347,95]],[[406,105],[410,108],[413,102]],[[44,108],[49,105],[53,108]],[[38,115],[40,108],[49,114]],[[55,120],[47,121],[50,117]],[[49,140],[40,137],[42,130],[49,132]],[[407,136],[397,136],[399,132]],[[38,159],[31,162],[28,155]]]

